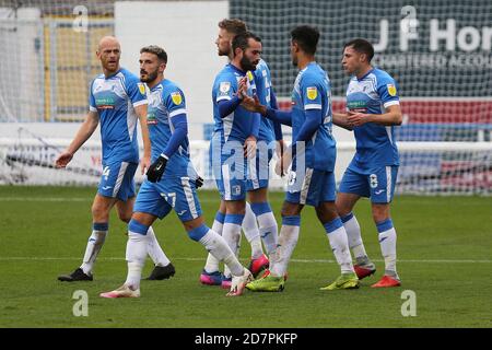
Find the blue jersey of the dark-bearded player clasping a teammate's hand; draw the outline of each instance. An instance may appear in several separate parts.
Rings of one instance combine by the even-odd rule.
[[[214,132],[220,132],[221,142],[236,140],[242,143],[253,132],[254,113],[246,110],[241,105],[229,116],[221,118],[219,113],[219,102],[232,100],[238,88],[238,81],[246,75],[233,65],[229,63],[219,72],[213,82],[212,101],[213,101],[213,120]],[[250,80],[248,79],[248,82]],[[254,86],[248,83],[248,95],[253,96]]]

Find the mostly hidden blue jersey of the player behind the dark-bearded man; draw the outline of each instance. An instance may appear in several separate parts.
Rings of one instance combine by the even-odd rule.
[[[271,74],[270,69],[267,66],[267,62],[262,59],[256,66],[255,70],[255,86],[256,86],[256,95],[260,104],[268,107],[273,107],[270,101],[270,92],[271,92]],[[261,118],[258,140],[263,140],[268,143],[276,139],[273,131],[273,121],[268,118]]]

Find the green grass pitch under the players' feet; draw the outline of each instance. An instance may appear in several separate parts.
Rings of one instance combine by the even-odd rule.
[[[339,275],[323,226],[305,208],[282,293],[226,298],[198,282],[206,252],[188,238],[176,214],[154,230],[176,267],[165,281],[142,281],[136,300],[98,294],[126,278],[126,225],[113,212],[93,282],[62,283],[80,266],[91,230],[94,188],[0,187],[0,327],[492,327],[492,198],[399,196],[393,205],[402,287],[374,290],[384,270],[367,200],[355,213],[375,276],[359,290],[324,292]],[[199,191],[207,223],[215,191]],[[277,219],[283,194],[270,194]],[[243,237],[241,259],[249,245]],[[148,260],[144,275],[152,269]],[[75,317],[74,291],[89,295],[89,316]],[[402,316],[401,294],[415,293],[417,316]],[[405,308],[405,307],[403,307]]]

